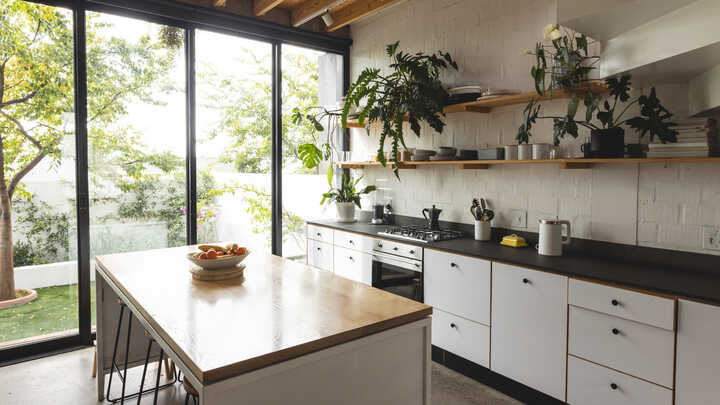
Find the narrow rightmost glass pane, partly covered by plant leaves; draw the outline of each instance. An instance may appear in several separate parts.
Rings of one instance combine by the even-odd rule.
[[[314,130],[304,121],[292,122],[292,111],[313,107],[336,108],[342,97],[342,56],[283,45],[283,256],[305,261],[305,220],[331,217],[332,210],[320,205],[328,190],[327,165],[308,169],[298,157],[298,147],[314,142]],[[334,137],[340,146],[339,128],[329,128],[321,137]],[[336,151],[337,156],[337,151]]]

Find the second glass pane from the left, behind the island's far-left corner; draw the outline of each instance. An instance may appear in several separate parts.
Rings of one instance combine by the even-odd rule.
[[[86,27],[91,259],[184,245],[184,32],[96,12]]]

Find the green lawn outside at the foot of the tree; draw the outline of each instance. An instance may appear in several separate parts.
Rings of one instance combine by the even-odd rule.
[[[91,286],[95,323],[95,283]],[[78,327],[77,284],[38,288],[35,301],[0,309],[0,342],[62,332]]]

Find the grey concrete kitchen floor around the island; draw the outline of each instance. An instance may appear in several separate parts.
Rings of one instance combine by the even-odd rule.
[[[97,405],[96,383],[91,376],[92,360],[93,349],[89,348],[2,367],[0,368],[0,404]],[[154,370],[154,367],[152,369]],[[128,378],[131,380],[129,387],[134,387],[133,389],[139,387],[141,372],[142,368],[130,371],[133,378]],[[161,383],[163,380],[164,378],[160,380]],[[147,381],[154,381],[154,377],[149,375]],[[113,392],[115,392],[115,383],[113,383]],[[185,391],[180,384],[176,384],[174,387],[160,391],[158,398],[158,404],[182,405]],[[483,384],[434,363],[432,398],[433,405],[520,404]],[[126,403],[135,404],[135,401]],[[142,404],[151,403],[152,395],[143,397]]]

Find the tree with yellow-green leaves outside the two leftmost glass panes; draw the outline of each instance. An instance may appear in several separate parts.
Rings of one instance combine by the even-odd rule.
[[[172,62],[177,35],[168,31],[159,39],[145,36],[130,44],[101,35],[104,26],[88,17],[90,148],[97,155],[113,151],[124,159],[148,161],[127,133],[110,124],[126,113],[128,98],[151,98],[150,84]],[[41,161],[60,164],[60,145],[74,133],[74,50],[71,14],[54,7],[4,0],[0,32],[0,300],[7,300],[15,298],[13,200],[28,196],[22,180]],[[142,172],[143,167],[134,167]]]

